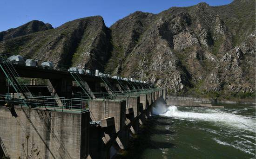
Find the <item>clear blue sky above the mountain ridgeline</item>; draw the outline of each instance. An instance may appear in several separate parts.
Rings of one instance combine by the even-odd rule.
[[[232,0],[0,0],[0,32],[40,20],[58,27],[67,21],[101,15],[109,27],[135,11],[160,13],[172,6],[226,5]]]

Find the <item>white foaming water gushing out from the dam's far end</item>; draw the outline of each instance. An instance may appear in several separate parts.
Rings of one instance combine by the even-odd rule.
[[[153,110],[154,114],[167,116],[180,120],[209,121],[229,127],[255,132],[255,118],[233,113],[227,113],[221,109],[197,108],[198,112],[179,111],[176,106],[158,106]]]

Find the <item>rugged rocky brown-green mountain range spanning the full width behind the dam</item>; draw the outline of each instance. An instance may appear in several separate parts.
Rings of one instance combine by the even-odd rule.
[[[254,97],[255,21],[255,0],[199,3],[135,12],[109,28],[100,16],[16,28],[20,34],[2,33],[0,52],[135,77],[172,94]]]

